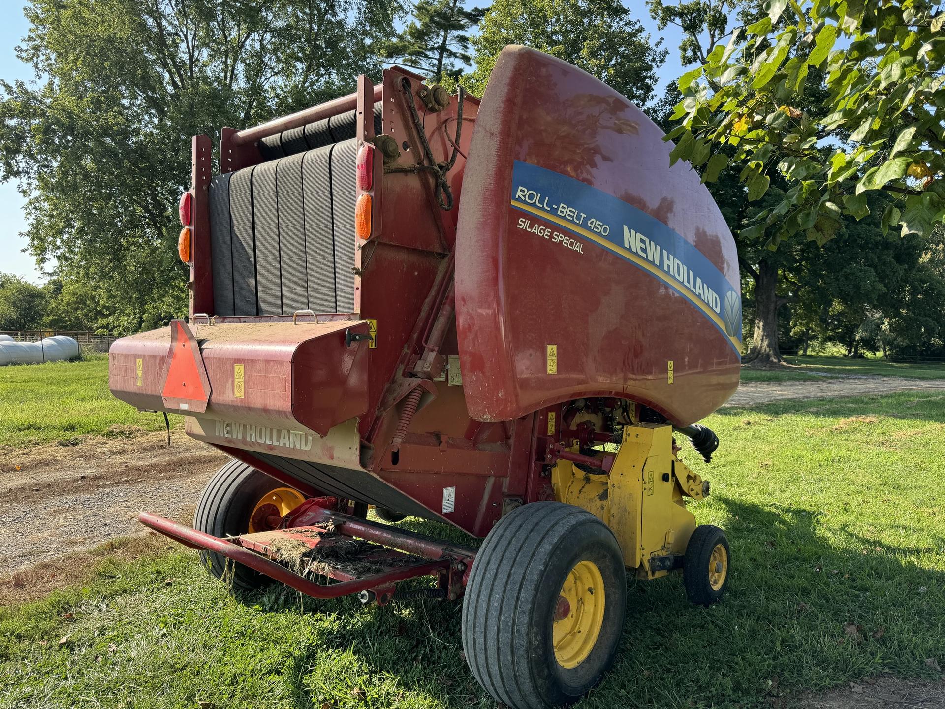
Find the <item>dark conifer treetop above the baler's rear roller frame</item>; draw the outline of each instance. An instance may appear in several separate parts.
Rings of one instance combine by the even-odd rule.
[[[460,0],[420,0],[414,6],[414,20],[400,36],[382,45],[381,54],[427,76],[443,74],[458,78],[461,67],[471,58],[469,31],[479,24],[485,9],[465,9]]]

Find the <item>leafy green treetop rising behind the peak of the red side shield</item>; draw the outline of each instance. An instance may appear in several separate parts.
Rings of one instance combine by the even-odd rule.
[[[472,39],[476,69],[464,86],[482,95],[499,52],[527,44],[570,61],[643,106],[653,96],[656,67],[666,59],[617,0],[496,0]]]

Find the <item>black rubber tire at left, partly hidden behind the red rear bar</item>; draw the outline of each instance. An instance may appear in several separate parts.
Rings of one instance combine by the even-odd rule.
[[[249,531],[253,508],[266,493],[285,487],[241,460],[232,459],[207,483],[194,512],[194,528],[215,537],[235,537]],[[231,583],[232,591],[247,592],[271,582],[248,566],[211,551],[201,551],[200,561],[215,579]]]

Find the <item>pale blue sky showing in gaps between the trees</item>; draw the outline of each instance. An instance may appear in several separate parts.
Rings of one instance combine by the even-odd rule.
[[[17,60],[15,53],[16,45],[26,35],[27,24],[22,6],[15,0],[3,0],[3,4],[4,9],[0,9],[0,78],[8,81],[32,78],[30,67]],[[485,3],[480,0],[478,4]],[[662,36],[663,44],[669,49],[669,58],[660,70],[658,95],[662,95],[662,88],[682,73],[679,66],[679,28],[668,26],[661,33],[657,30],[656,23],[650,19],[644,0],[627,0],[625,4],[633,16],[644,24],[650,36],[654,40]],[[0,183],[0,271],[15,273],[34,283],[41,283],[43,276],[36,268],[36,262],[28,253],[23,253],[26,248],[26,239],[20,235],[26,230],[23,204],[24,199],[14,183]]]

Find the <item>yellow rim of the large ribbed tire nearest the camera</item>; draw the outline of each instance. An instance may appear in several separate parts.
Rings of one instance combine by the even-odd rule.
[[[552,643],[558,665],[587,660],[604,625],[604,577],[593,562],[577,562],[564,579],[555,608]]]

